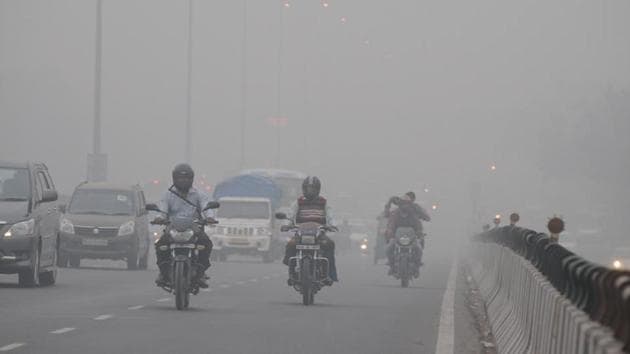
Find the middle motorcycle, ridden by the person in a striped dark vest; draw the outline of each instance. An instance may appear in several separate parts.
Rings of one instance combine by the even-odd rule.
[[[276,219],[286,220],[284,213],[277,213]],[[289,258],[290,280],[293,288],[302,294],[302,304],[312,305],[315,294],[324,286],[330,285],[328,258],[321,256],[320,238],[326,232],[337,231],[336,227],[314,222],[299,225],[283,225],[282,231],[294,231],[297,253]]]

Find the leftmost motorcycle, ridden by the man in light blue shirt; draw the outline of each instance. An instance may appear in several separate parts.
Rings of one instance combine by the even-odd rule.
[[[199,215],[202,215],[203,211],[218,207],[219,203],[209,202],[199,212]],[[155,204],[147,204],[146,209],[166,214]],[[171,282],[161,285],[161,288],[171,294],[175,294],[175,307],[181,311],[188,308],[190,294],[197,295],[199,293],[199,285],[195,281],[197,276],[199,276],[197,257],[199,250],[202,249],[200,247],[204,246],[197,245],[198,235],[203,232],[204,226],[213,225],[217,222],[206,219],[172,218],[162,222],[154,220],[151,223],[166,226],[164,231],[170,237],[170,243],[160,247],[164,247],[163,250],[170,249],[171,251]]]

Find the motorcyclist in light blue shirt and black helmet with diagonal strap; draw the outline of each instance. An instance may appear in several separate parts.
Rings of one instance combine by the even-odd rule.
[[[193,218],[206,219],[211,223],[216,223],[212,218],[213,212],[207,210],[203,212],[203,207],[208,204],[210,197],[204,192],[193,187],[195,172],[189,164],[181,163],[173,169],[173,185],[166,191],[159,203],[160,210],[166,213],[166,218],[157,217],[152,221],[154,224],[164,224],[170,218]],[[168,247],[170,236],[166,233],[155,242],[155,254],[157,257],[157,265],[160,269],[160,275],[155,281],[158,285],[167,285],[170,283],[170,264],[171,253]],[[197,283],[201,288],[207,288],[207,276],[205,271],[210,267],[210,253],[212,252],[212,241],[208,235],[203,232],[197,235],[197,245],[203,245],[203,249],[199,249],[197,264],[199,271],[197,272]]]

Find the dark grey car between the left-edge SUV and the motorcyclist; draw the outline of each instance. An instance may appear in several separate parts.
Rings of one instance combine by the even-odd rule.
[[[59,266],[79,267],[87,258],[146,269],[151,241],[145,204],[138,185],[80,184],[60,221]]]

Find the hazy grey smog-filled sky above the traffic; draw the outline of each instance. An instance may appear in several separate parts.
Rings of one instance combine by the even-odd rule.
[[[246,2],[194,1],[192,163],[213,181],[241,167],[246,102],[244,167],[320,175],[362,210],[425,184],[462,209],[474,181],[489,213],[544,205],[545,186],[583,183],[545,177],[544,149],[563,147],[545,132],[604,121],[606,92],[630,90],[627,0]],[[185,158],[187,21],[188,1],[103,0],[112,179]],[[94,29],[95,1],[0,0],[0,159],[45,161],[64,192],[92,147]],[[628,150],[608,156],[623,171]]]

